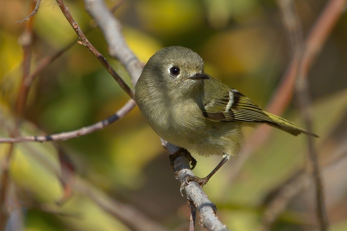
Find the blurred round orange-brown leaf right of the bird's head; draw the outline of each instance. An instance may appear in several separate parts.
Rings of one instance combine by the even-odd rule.
[[[206,42],[202,55],[225,75],[255,72],[268,61],[271,51],[273,35],[264,35],[265,30],[269,29],[250,27],[215,34]]]

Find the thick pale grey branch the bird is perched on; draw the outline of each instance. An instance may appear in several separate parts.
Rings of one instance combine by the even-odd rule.
[[[129,75],[135,84],[139,78],[143,65],[127,46],[121,33],[120,23],[101,0],[84,0],[85,8],[95,20],[101,29],[106,42],[109,46],[111,56],[117,58],[129,72]],[[163,146],[170,152],[175,153],[178,147],[163,141]],[[193,175],[190,169],[189,161],[183,156],[179,156],[174,161],[175,176],[180,182],[183,182],[186,174]],[[200,214],[200,224],[209,230],[228,230],[215,216],[215,205],[208,199],[201,187],[196,182],[189,182],[185,186],[188,200],[191,200]]]

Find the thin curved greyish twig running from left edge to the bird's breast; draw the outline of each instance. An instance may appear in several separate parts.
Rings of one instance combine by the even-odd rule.
[[[115,114],[109,116],[108,118],[99,121],[98,123],[92,124],[87,127],[82,127],[78,130],[70,131],[70,132],[62,132],[58,134],[52,135],[37,135],[37,136],[22,136],[15,138],[0,138],[0,143],[19,143],[19,142],[46,142],[46,141],[58,141],[58,140],[68,140],[71,138],[76,138],[82,135],[90,134],[92,132],[101,130],[104,127],[116,122],[118,119],[123,118],[128,112],[130,112],[136,103],[133,99],[129,99],[128,102],[120,108]]]

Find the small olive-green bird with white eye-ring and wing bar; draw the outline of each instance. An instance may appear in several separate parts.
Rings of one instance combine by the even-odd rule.
[[[200,155],[221,155],[222,161],[201,185],[242,147],[243,126],[266,123],[293,135],[306,132],[296,124],[258,107],[238,90],[204,73],[202,58],[189,48],[157,51],[135,86],[135,101],[160,137]]]

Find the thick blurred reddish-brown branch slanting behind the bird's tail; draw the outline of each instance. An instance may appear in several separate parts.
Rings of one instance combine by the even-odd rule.
[[[321,48],[332,28],[336,25],[338,18],[345,9],[346,2],[347,0],[329,1],[305,40],[301,63],[298,63],[297,57],[293,57],[293,60],[282,77],[280,85],[271,97],[266,110],[276,115],[281,115],[283,113],[292,98],[296,73],[298,72],[299,65],[305,67],[306,73],[308,72],[310,66],[315,61],[315,57],[321,51]],[[228,173],[229,182],[236,178],[246,160],[251,156],[256,148],[268,139],[271,131],[272,128],[270,126],[262,125],[259,126],[259,128],[257,128],[247,139],[242,154],[237,161],[232,163],[233,166],[230,168],[230,172]]]

